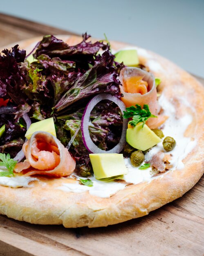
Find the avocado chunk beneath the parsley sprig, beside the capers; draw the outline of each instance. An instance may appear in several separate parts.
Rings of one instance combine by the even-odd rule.
[[[136,126],[131,126],[126,132],[126,141],[133,148],[139,150],[147,150],[157,145],[161,139],[153,132],[146,124],[139,123]]]

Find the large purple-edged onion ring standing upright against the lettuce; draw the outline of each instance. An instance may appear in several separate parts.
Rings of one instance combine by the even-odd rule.
[[[123,128],[122,128],[121,138],[119,140],[119,143],[116,146],[114,146],[114,148],[107,150],[107,151],[102,150],[101,148],[98,148],[94,144],[94,142],[92,141],[92,139],[90,137],[90,134],[89,134],[89,126],[91,124],[90,113],[91,113],[92,109],[96,106],[97,103],[99,103],[100,101],[103,101],[105,99],[108,99],[108,100],[114,102],[117,106],[119,106],[122,114],[123,114],[123,111],[126,110],[125,104],[120,99],[118,99],[117,97],[112,96],[110,94],[107,94],[107,93],[103,93],[103,94],[99,94],[99,95],[95,96],[87,104],[87,106],[84,110],[83,116],[82,116],[82,120],[81,120],[81,132],[82,132],[82,139],[83,139],[84,146],[86,147],[86,149],[89,152],[94,153],[94,154],[96,154],[96,153],[120,153],[126,144],[126,129],[127,129],[127,125],[128,125],[128,119],[124,119],[124,118],[123,118]]]

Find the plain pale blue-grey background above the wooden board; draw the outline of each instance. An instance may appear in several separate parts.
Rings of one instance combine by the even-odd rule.
[[[0,12],[150,49],[204,77],[204,0],[0,0]]]

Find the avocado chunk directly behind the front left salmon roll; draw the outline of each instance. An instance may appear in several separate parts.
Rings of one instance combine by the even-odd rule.
[[[52,135],[54,135],[55,137],[57,137],[56,130],[54,127],[53,117],[31,124],[31,126],[28,128],[28,130],[25,134],[25,137],[27,139],[30,139],[31,135],[34,132],[38,132],[38,131],[49,132]]]

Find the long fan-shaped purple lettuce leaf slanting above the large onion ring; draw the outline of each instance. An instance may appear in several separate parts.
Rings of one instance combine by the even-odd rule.
[[[114,55],[104,52],[99,61],[74,83],[53,109],[58,112],[76,101],[104,92],[121,97],[120,82],[113,64]]]

